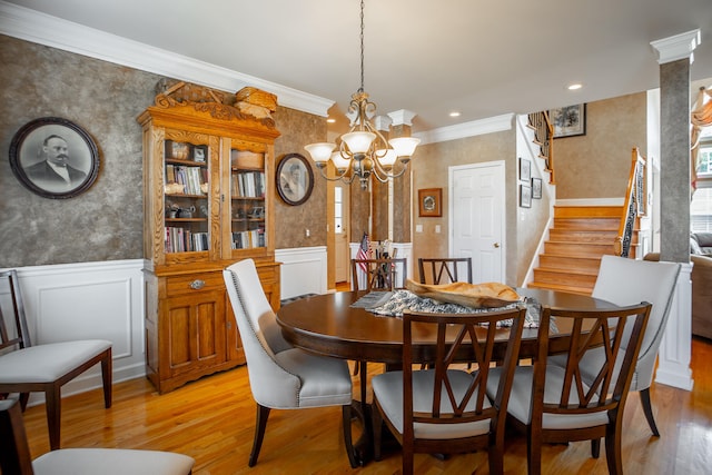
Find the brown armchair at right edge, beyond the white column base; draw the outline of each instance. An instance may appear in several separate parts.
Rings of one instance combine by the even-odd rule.
[[[651,253],[645,260],[660,260]],[[691,254],[692,261],[692,335],[712,339],[712,257]]]

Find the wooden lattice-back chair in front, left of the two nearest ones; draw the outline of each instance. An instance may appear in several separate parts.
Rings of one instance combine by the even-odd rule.
[[[478,448],[488,452],[490,473],[504,466],[504,423],[512,376],[520,353],[526,308],[478,314],[404,311],[403,370],[373,377],[374,456],[380,458],[383,423],[403,446],[403,474],[412,474],[414,453],[458,454]],[[511,323],[503,375],[492,397],[487,376],[494,363],[497,324]],[[429,369],[414,369],[418,358],[418,335],[435,328],[437,346]],[[464,349],[474,355],[473,373],[453,367]]]

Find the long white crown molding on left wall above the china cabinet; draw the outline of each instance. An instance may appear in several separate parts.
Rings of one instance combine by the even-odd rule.
[[[333,100],[301,92],[138,41],[107,33],[0,0],[0,33],[90,58],[195,82],[238,91],[256,87],[277,96],[280,106],[327,117]]]

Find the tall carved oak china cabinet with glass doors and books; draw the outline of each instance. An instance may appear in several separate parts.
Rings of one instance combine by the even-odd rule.
[[[253,258],[275,310],[274,95],[161,82],[144,128],[146,373],[159,393],[245,363],[222,269]]]

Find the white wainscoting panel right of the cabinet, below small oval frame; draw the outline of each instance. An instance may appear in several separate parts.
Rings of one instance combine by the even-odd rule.
[[[275,260],[281,263],[281,300],[328,291],[326,246],[276,249]]]

